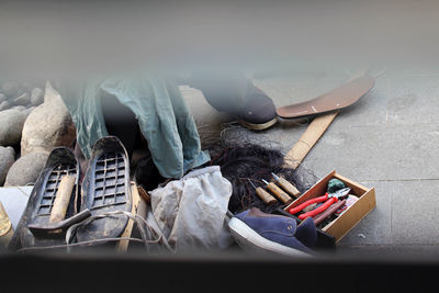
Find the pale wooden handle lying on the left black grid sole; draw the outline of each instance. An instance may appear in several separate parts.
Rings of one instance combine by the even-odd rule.
[[[54,206],[52,207],[49,223],[60,222],[66,217],[67,207],[70,203],[71,192],[74,191],[75,176],[65,176],[59,182],[56,192]]]

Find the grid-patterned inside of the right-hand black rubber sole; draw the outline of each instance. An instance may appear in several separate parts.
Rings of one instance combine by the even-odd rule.
[[[91,210],[126,203],[125,161],[122,154],[109,153],[99,157],[94,172]]]

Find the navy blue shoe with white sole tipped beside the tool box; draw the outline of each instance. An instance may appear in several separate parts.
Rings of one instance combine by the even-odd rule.
[[[251,207],[235,215],[228,227],[244,250],[264,250],[282,255],[306,257],[314,253],[317,232],[313,218],[299,226],[292,217],[262,213]]]

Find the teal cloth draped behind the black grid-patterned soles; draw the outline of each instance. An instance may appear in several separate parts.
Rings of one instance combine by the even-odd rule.
[[[61,93],[77,127],[77,142],[89,158],[94,143],[108,135],[104,97],[113,95],[135,114],[153,160],[165,178],[181,178],[210,160],[201,150],[195,123],[177,84],[155,77],[106,78],[75,84]]]

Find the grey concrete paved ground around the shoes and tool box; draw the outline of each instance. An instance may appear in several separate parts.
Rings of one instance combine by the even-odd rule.
[[[340,253],[439,257],[439,72],[383,69],[371,68],[375,87],[336,117],[303,166],[318,178],[335,169],[375,188],[376,209],[338,244]],[[254,80],[281,106],[336,88],[351,74],[297,70]],[[233,121],[210,108],[200,91],[182,91],[203,139]],[[227,132],[275,140],[286,151],[305,131],[306,121],[281,121],[259,133],[230,125]]]

